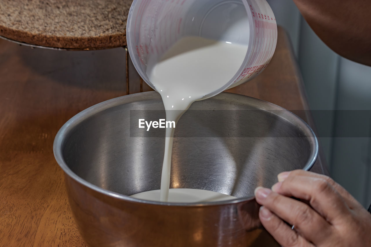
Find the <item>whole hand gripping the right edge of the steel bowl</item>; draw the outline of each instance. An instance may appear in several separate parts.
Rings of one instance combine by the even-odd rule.
[[[371,246],[371,214],[331,178],[296,170],[278,181],[255,197],[260,221],[283,247]]]

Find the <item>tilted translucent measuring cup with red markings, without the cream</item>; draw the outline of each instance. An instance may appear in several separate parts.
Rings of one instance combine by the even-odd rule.
[[[175,42],[200,36],[247,45],[237,73],[210,98],[259,75],[269,64],[277,43],[277,23],[266,0],[134,0],[127,21],[131,60],[151,88],[148,61],[157,61]]]

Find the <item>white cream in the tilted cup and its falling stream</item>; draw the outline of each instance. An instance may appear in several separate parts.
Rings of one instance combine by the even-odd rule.
[[[237,73],[247,46],[201,37],[178,40],[160,61],[148,64],[148,79],[160,93],[166,120],[178,122],[190,105],[226,85]],[[180,111],[172,111],[180,110]],[[166,129],[161,201],[168,200],[174,128]]]

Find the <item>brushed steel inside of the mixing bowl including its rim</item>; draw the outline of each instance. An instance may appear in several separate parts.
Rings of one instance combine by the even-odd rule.
[[[159,205],[128,195],[160,189],[165,129],[138,128],[138,118],[165,118],[157,92],[122,96],[70,119],[54,142],[66,175],[99,193]],[[293,113],[261,101],[221,93],[194,102],[175,130],[170,188],[211,190],[251,199],[282,171],[308,170],[318,155],[312,129]]]

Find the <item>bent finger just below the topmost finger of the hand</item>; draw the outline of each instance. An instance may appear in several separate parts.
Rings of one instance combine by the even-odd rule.
[[[289,176],[273,185],[272,190],[287,197],[309,201],[311,207],[331,223],[350,213],[341,195],[322,178]]]

